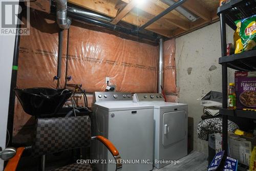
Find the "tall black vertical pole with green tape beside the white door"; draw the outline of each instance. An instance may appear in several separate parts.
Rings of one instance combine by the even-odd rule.
[[[20,2],[19,2],[19,5],[22,6],[22,4]],[[18,14],[18,18],[22,19],[22,12],[20,12]],[[21,26],[21,24],[17,23],[17,30],[20,29],[20,26]],[[17,84],[19,40],[20,40],[20,34],[17,31],[17,33],[15,35],[15,43],[14,43],[14,51],[13,51],[12,77],[11,77],[8,121],[7,121],[7,130],[9,131],[9,135],[10,135],[9,136],[9,144],[6,144],[8,146],[12,146],[13,119],[14,119],[14,108],[15,108],[15,93],[14,93],[13,89],[16,88],[16,84]],[[6,139],[6,143],[7,143],[7,141],[8,141],[8,139]]]

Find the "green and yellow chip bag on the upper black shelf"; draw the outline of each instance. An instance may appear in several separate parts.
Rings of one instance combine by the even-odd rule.
[[[237,20],[236,25],[237,32],[239,33],[243,44],[242,51],[256,49],[256,15]],[[237,46],[237,48],[238,47],[239,46]]]

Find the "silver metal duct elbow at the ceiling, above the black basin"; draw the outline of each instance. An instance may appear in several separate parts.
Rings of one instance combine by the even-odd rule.
[[[56,2],[56,17],[57,24],[60,29],[68,29],[71,24],[71,20],[67,17],[67,0],[55,0]]]

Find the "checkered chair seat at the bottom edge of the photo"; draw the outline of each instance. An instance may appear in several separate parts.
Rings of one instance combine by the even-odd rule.
[[[97,169],[93,167],[91,164],[74,163],[74,164],[57,168],[52,171],[97,171]]]

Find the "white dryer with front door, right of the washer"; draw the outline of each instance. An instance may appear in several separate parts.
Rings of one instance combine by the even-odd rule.
[[[161,94],[136,93],[133,101],[154,105],[154,162],[166,166],[187,155],[187,104],[165,102]]]

